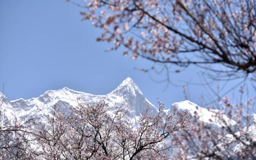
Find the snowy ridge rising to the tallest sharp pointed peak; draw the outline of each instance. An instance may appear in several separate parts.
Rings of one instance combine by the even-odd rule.
[[[37,108],[51,113],[51,106],[58,104],[62,110],[68,112],[69,108],[78,105],[77,98],[80,98],[79,102],[84,103],[96,103],[104,98],[109,103],[110,111],[115,109],[115,105],[120,106],[122,102],[125,102],[126,105],[124,107],[130,110],[128,116],[133,120],[140,116],[144,108],[148,105],[151,112],[158,112],[157,108],[143,96],[138,86],[129,77],[115,90],[106,95],[93,95],[64,87],[60,90],[48,90],[38,98],[31,98],[29,100],[20,98],[8,102],[19,113],[18,116],[28,115],[40,118],[42,112],[38,112]]]

